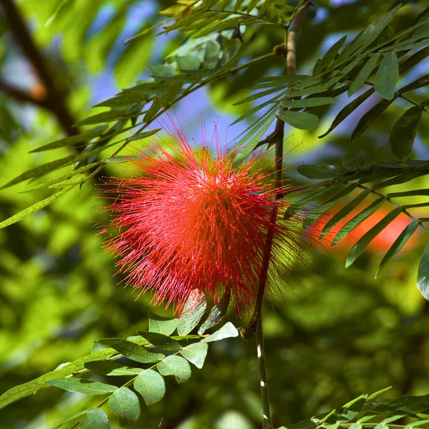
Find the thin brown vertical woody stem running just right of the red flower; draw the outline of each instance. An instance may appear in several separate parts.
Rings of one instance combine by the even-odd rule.
[[[296,37],[301,27],[302,21],[305,15],[305,6],[307,5],[306,0],[298,2],[298,12],[294,16],[293,22],[289,31],[285,35],[285,46],[287,47],[286,53],[286,67],[287,74],[296,74]],[[301,7],[301,9],[300,9]],[[277,118],[276,129],[274,133],[274,141],[276,145],[275,154],[275,189],[281,191],[283,187],[283,138],[284,138],[284,126],[285,123],[282,119]],[[276,199],[282,198],[281,192],[278,192]],[[271,259],[271,251],[273,246],[273,237],[276,228],[277,221],[277,207],[275,207],[271,213],[270,228],[267,231],[267,241],[264,249],[263,263],[261,268],[261,274],[258,286],[258,295],[256,296],[255,308],[253,316],[251,318],[251,324],[254,323],[256,330],[256,347],[258,350],[258,364],[260,373],[260,384],[261,384],[261,398],[262,398],[262,409],[263,409],[263,429],[273,429],[271,423],[271,412],[270,412],[270,397],[268,393],[267,383],[267,369],[265,363],[265,347],[264,347],[264,335],[262,329],[262,304],[264,302],[265,287],[268,278],[268,267]]]

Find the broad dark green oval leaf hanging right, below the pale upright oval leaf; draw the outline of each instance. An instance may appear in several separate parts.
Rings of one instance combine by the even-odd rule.
[[[420,107],[411,107],[395,122],[390,132],[390,148],[401,161],[405,161],[411,153],[422,111]]]

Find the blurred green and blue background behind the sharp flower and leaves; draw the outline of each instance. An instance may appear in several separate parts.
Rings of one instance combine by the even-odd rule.
[[[313,3],[297,47],[302,73],[308,73],[316,58],[342,35],[353,37],[393,5],[387,0]],[[399,11],[397,25],[411,25],[423,2],[403,3],[407,5]],[[93,105],[147,77],[148,64],[163,62],[184,42],[180,33],[155,37],[155,31],[124,45],[128,37],[158,22],[157,11],[170,4],[0,1],[0,185],[69,154],[67,149],[29,151],[72,133],[71,124],[101,111]],[[6,13],[11,7],[18,21]],[[22,37],[20,23],[34,43],[36,56]],[[270,52],[282,41],[277,30],[258,31],[251,47],[255,55]],[[52,80],[51,89],[38,77],[41,63]],[[401,84],[424,74],[428,66],[427,60],[421,62]],[[175,112],[188,137],[200,139],[203,117],[208,135],[217,122],[221,140],[232,142],[246,124],[227,127],[249,108],[232,103],[246,96],[255,79],[282,72],[277,59],[270,60],[183,100]],[[417,96],[421,101],[428,99],[427,89],[418,90]],[[356,115],[362,116],[376,101],[373,97]],[[348,135],[357,121],[355,115],[327,138],[317,138],[347,96],[340,100],[342,105],[329,110],[317,108],[318,130],[286,129],[286,150],[291,150],[286,162],[292,165],[288,169],[292,180],[300,180],[294,173],[298,163],[340,164],[342,155],[352,148]],[[392,105],[353,148],[364,149],[372,159],[393,159],[386,141],[403,106],[400,101]],[[429,121],[422,119],[414,157],[428,158],[428,142]],[[103,175],[118,174],[120,168],[114,165],[103,171]],[[103,237],[94,227],[106,222],[102,208],[107,204],[96,182],[89,181],[34,216],[0,230],[0,393],[90,353],[98,338],[126,337],[146,329],[149,311],[172,315],[162,307],[151,307],[148,294],[135,301],[131,289],[118,285],[115,261],[103,251]],[[404,189],[413,186],[429,188],[429,183],[420,178]],[[49,195],[43,189],[25,192],[28,187],[20,184],[0,191],[0,219]],[[383,214],[381,209],[371,222]],[[429,392],[429,306],[415,286],[427,235],[416,233],[374,280],[383,251],[403,227],[403,219],[392,223],[347,270],[347,250],[363,230],[334,247],[326,240],[284,280],[284,296],[266,305],[275,424],[311,417],[387,386],[393,386],[387,394],[391,397]],[[245,322],[228,317],[236,326]],[[55,427],[65,415],[96,400],[43,389],[1,410],[0,428]],[[164,428],[250,429],[259,427],[260,415],[254,341],[234,338],[211,345],[203,369],[194,370],[187,383],[178,385],[171,378],[160,402],[142,406],[142,418],[135,427],[158,427],[162,418]]]

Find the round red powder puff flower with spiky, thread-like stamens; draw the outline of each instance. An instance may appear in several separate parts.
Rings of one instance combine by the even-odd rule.
[[[273,190],[256,158],[233,168],[232,156],[217,139],[213,159],[175,132],[169,133],[175,146],[155,143],[148,154],[130,159],[134,177],[107,182],[107,192],[119,195],[108,208],[112,222],[106,248],[119,257],[126,284],[141,289],[139,295],[151,290],[155,303],[173,303],[180,313],[197,289],[215,301],[229,292],[239,311],[249,310],[258,291],[267,231],[274,228],[273,280],[274,272],[287,269],[300,254],[299,228],[283,220],[287,205],[276,201],[280,190]]]

